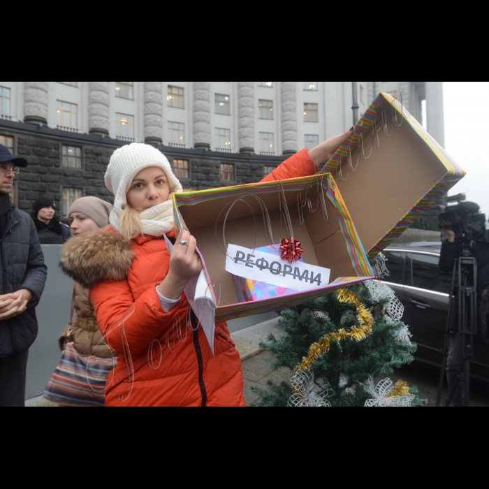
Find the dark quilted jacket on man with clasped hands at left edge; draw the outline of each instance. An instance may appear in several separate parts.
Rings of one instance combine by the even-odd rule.
[[[28,214],[10,205],[3,236],[0,237],[0,295],[27,289],[34,295],[27,311],[0,321],[0,358],[26,351],[38,333],[36,309],[44,290],[48,268],[36,226]]]

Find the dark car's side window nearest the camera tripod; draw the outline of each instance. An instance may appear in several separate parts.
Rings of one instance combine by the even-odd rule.
[[[438,256],[414,253],[408,257],[408,261],[411,262],[411,286],[427,291],[450,293],[452,274],[440,272]]]

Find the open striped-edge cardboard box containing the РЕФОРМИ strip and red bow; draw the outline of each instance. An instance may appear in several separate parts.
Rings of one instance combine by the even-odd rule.
[[[300,224],[298,196],[300,200],[304,199],[309,189],[308,197],[315,206],[318,185],[326,196],[328,220],[325,221],[323,217],[321,205],[314,213],[309,212],[306,206],[304,222]],[[302,242],[301,247],[305,250],[302,257],[305,263],[329,268],[330,285],[312,292],[239,303],[233,277],[231,273],[226,272],[226,245],[255,249],[270,244],[277,245],[282,239],[291,238],[285,235],[286,226],[284,221],[281,222],[279,191],[282,188],[289,208],[294,238]],[[261,205],[251,196],[261,198],[268,210],[275,241],[273,243],[269,242],[265,232]],[[238,202],[228,214],[225,244],[223,228],[229,208],[226,205],[239,198],[243,198],[246,203]],[[353,221],[331,175],[176,194],[174,203],[177,228],[189,230],[197,240],[207,281],[211,284],[212,298],[217,305],[216,321],[229,321],[298,305],[344,286],[371,279],[374,275]]]

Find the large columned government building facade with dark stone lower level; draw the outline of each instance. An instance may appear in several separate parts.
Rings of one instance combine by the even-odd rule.
[[[0,82],[0,143],[31,163],[13,198],[48,195],[66,219],[80,196],[110,200],[112,152],[145,142],[184,186],[257,182],[287,156],[342,133],[380,92],[402,98],[444,143],[443,82]],[[355,93],[352,87],[356,87]]]

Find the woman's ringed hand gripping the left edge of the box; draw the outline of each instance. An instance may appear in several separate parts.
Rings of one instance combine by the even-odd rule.
[[[182,242],[187,244],[182,245]],[[180,299],[191,279],[202,271],[202,262],[196,253],[197,241],[189,231],[180,231],[170,258],[170,270],[158,290],[167,299]]]

